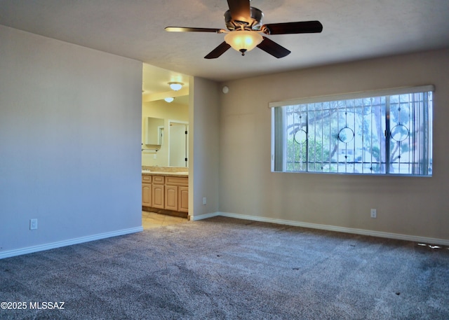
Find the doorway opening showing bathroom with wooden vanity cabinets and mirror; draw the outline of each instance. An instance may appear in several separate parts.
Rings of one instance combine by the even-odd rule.
[[[142,225],[187,221],[189,202],[189,78],[143,64]],[[182,83],[173,90],[169,84]],[[172,97],[170,102],[166,97]]]

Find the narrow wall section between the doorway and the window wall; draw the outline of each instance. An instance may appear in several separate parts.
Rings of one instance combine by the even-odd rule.
[[[219,204],[220,96],[217,83],[189,80],[189,215],[216,213]],[[203,204],[206,197],[206,204]]]

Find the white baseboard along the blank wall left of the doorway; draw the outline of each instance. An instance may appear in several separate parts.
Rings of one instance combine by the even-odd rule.
[[[61,246],[71,246],[72,244],[81,244],[83,242],[90,242],[90,241],[105,239],[105,238],[109,238],[109,237],[116,237],[119,235],[128,235],[129,233],[135,233],[135,232],[141,232],[141,231],[143,231],[142,226],[136,227],[136,228],[129,228],[129,229],[112,231],[112,232],[100,233],[98,235],[89,235],[87,237],[79,237],[76,239],[52,242],[49,244],[41,244],[39,246],[28,246],[27,248],[0,252],[0,259],[10,258],[13,256],[20,256],[22,254],[27,254],[27,253],[34,253],[34,252],[38,252],[38,251],[60,248]]]

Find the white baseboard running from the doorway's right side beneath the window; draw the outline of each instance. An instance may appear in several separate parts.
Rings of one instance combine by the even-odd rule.
[[[443,246],[449,246],[449,239],[419,237],[419,236],[415,236],[415,235],[401,235],[398,233],[391,233],[391,232],[381,232],[381,231],[356,229],[356,228],[345,228],[345,227],[337,227],[335,225],[321,225],[321,224],[317,224],[317,223],[307,223],[307,222],[283,220],[283,219],[276,219],[276,218],[265,218],[262,216],[249,216],[246,214],[232,214],[229,212],[213,212],[211,214],[203,214],[198,217],[194,216],[193,220],[200,220],[203,218],[211,218],[213,216],[227,216],[229,218],[276,223],[276,224],[281,224],[281,225],[293,225],[293,226],[297,226],[297,227],[312,228],[312,229],[319,229],[319,230],[345,232],[345,233],[352,233],[354,235],[368,235],[368,236],[372,236],[372,237],[382,237],[382,238],[406,240],[406,241],[412,241],[412,242],[418,242],[418,243],[424,243],[424,244],[432,244],[432,245],[439,244],[439,245],[443,245]]]

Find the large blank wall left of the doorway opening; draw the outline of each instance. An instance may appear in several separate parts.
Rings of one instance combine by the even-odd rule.
[[[0,258],[141,230],[142,63],[3,26],[0,43]]]

